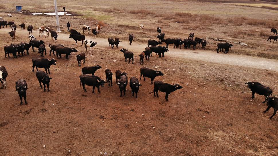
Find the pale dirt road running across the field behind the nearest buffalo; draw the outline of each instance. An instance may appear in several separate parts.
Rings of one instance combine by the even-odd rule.
[[[1,29],[1,34],[6,34],[11,29]],[[17,30],[16,36],[18,35],[26,35],[26,42],[28,41],[28,32]],[[38,33],[34,30],[33,35],[37,37],[38,40],[44,40],[45,37],[38,37]],[[8,34],[7,34],[8,36]],[[108,47],[108,40],[104,38],[97,38],[93,39],[92,36],[86,36],[87,40],[92,40],[97,42],[97,48],[107,49]],[[59,40],[69,41],[70,43],[75,43],[75,41],[68,37],[68,34],[65,33],[58,33],[58,42]],[[15,40],[17,42],[17,40]],[[77,42],[80,46],[81,42]],[[119,44],[120,48],[128,48],[128,50],[135,52],[139,55],[140,52],[144,51],[146,44],[133,42],[132,46],[129,45],[128,41],[122,41]],[[83,47],[82,47],[83,48]],[[119,48],[119,49],[120,49]],[[118,50],[115,48],[115,50]],[[236,54],[217,54],[214,51],[208,50],[185,50],[185,49],[173,49],[173,46],[169,46],[169,51],[165,54],[166,56],[176,57],[176,58],[185,58],[190,60],[201,60],[205,62],[211,63],[219,63],[219,64],[228,64],[233,66],[243,66],[243,67],[251,67],[251,68],[259,68],[259,69],[267,69],[278,71],[278,61],[271,60],[266,58],[257,58],[252,56],[242,56]]]

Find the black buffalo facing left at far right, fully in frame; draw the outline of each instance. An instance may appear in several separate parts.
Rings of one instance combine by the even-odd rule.
[[[262,85],[259,82],[247,82],[245,84],[247,84],[247,88],[251,89],[251,91],[252,91],[252,98],[255,97],[254,96],[255,93],[257,93],[259,95],[264,95],[265,98],[266,98],[265,101],[267,100],[268,97],[272,96],[272,89]],[[265,101],[263,101],[262,103],[265,103]]]

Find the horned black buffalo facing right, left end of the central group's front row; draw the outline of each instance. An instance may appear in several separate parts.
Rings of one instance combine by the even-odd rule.
[[[80,86],[82,84],[83,89],[85,92],[87,92],[86,88],[85,88],[85,84],[87,86],[93,86],[93,92],[95,94],[95,87],[97,87],[99,93],[99,86],[104,87],[104,84],[107,83],[104,80],[101,80],[101,78],[99,78],[98,76],[94,76],[94,75],[88,75],[88,74],[82,74],[79,76],[80,78]]]

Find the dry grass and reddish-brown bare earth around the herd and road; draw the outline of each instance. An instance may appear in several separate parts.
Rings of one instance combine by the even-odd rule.
[[[59,16],[62,32],[58,33],[57,44],[78,50],[66,60],[64,55],[61,59],[49,56],[48,44],[54,42],[51,37],[38,37],[36,31],[42,25],[55,29],[54,16],[30,15],[33,12],[53,12],[52,1],[41,0],[33,4],[27,0],[0,2],[0,17],[15,21],[17,25],[33,25],[33,35],[46,44],[45,57],[57,60],[57,65],[50,67],[51,91],[43,92],[32,72],[32,58],[40,57],[37,48],[36,52],[30,48],[28,56],[4,57],[3,47],[28,42],[28,32],[17,28],[12,42],[6,32],[9,28],[0,29],[0,66],[5,66],[9,74],[7,90],[0,89],[0,155],[278,155],[278,115],[269,120],[273,108],[263,113],[267,107],[261,103],[264,97],[255,94],[251,99],[252,92],[244,84],[261,82],[273,89],[273,96],[277,96],[276,71],[267,67],[231,65],[230,62],[220,64],[170,57],[168,53],[173,50],[173,45],[169,46],[170,51],[164,58],[154,54],[150,61],[144,60],[144,65],[139,64],[138,56],[145,50],[148,39],[156,40],[156,28],[162,27],[165,38],[183,39],[194,32],[200,38],[228,40],[234,47],[226,54],[227,58],[236,54],[255,56],[258,64],[269,59],[276,61],[278,44],[266,40],[270,29],[277,28],[278,11],[209,1],[90,0],[84,4],[76,0],[66,3],[57,0],[59,11],[65,6],[68,13],[74,14]],[[14,12],[14,5],[18,3],[23,5],[23,13]],[[6,17],[7,13],[13,17]],[[79,32],[82,25],[102,26],[97,39],[93,39],[98,42],[93,52],[85,52],[81,42],[76,46],[72,39],[61,37],[68,34],[67,21]],[[140,32],[140,24],[144,24],[144,32]],[[128,34],[131,33],[136,47],[140,48],[132,49],[128,45]],[[93,38],[91,33],[85,35]],[[111,49],[108,42],[102,44],[102,39],[108,37],[120,38],[119,49]],[[234,44],[239,41],[248,46]],[[224,55],[216,53],[218,41],[207,39],[207,42],[205,52],[215,52],[216,57]],[[119,51],[121,48],[133,50],[134,64],[124,62]],[[184,52],[198,54],[200,48]],[[79,67],[76,55],[81,52],[86,54],[86,63]],[[79,80],[81,68],[97,64],[102,68],[95,75],[102,79],[105,79],[106,68],[114,75],[115,70],[122,70],[128,73],[128,78],[140,78],[140,68],[146,66],[164,73],[155,80],[178,83],[183,88],[172,92],[167,102],[163,92],[158,92],[159,98],[153,97],[153,85],[147,78],[146,81],[140,80],[142,86],[137,99],[131,96],[129,85],[126,96],[120,97],[113,75],[113,86],[105,84],[99,94],[92,94],[92,87],[85,86],[88,92],[84,92]],[[21,78],[28,83],[28,105],[19,106],[15,82]]]

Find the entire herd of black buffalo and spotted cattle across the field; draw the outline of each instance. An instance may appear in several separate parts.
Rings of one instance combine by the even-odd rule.
[[[9,32],[9,34],[11,35],[11,37],[13,39],[15,39],[14,38],[15,32],[16,32],[15,23],[14,22],[4,22],[4,24],[3,24],[3,22],[2,22],[2,23],[0,23],[0,28],[1,28],[1,26],[4,27],[4,25],[6,25],[6,27],[7,27],[7,25],[10,25],[10,28],[12,29],[12,31]],[[23,30],[25,29],[24,23],[20,24],[19,26],[21,27],[21,29],[23,29]],[[24,43],[19,43],[19,44],[11,44],[10,46],[4,47],[5,57],[7,57],[6,55],[8,55],[8,57],[10,57],[9,54],[13,54],[13,58],[17,58],[17,52],[18,52],[18,56],[20,56],[20,53],[23,56],[25,53],[24,50],[26,50],[26,54],[29,55],[28,51],[31,46],[32,46],[33,52],[34,52],[34,47],[38,48],[38,52],[40,53],[41,57],[44,57],[44,54],[46,55],[46,48],[44,45],[44,41],[36,40],[36,37],[34,37],[34,35],[30,35],[30,33],[32,33],[32,29],[33,29],[32,25],[29,25],[27,28],[27,30],[29,32],[29,36],[28,36],[29,42],[28,43],[24,42]],[[97,33],[99,33],[99,29],[100,29],[100,26],[98,25],[96,27],[96,29],[92,30],[94,38],[96,38]],[[143,29],[144,29],[144,26],[140,25],[140,30],[143,31]],[[83,33],[86,30],[89,34],[89,32],[91,31],[91,28],[87,25],[83,25],[82,30],[83,30]],[[271,29],[271,32],[275,33],[275,30]],[[159,41],[148,40],[148,42],[147,42],[148,46],[145,48],[145,51],[143,51],[139,55],[140,64],[143,64],[144,58],[146,58],[146,60],[147,59],[150,60],[150,56],[152,56],[152,52],[155,52],[156,54],[158,54],[158,57],[161,57],[161,54],[162,54],[162,57],[164,57],[164,53],[169,51],[168,50],[169,44],[174,44],[174,48],[179,48],[179,47],[181,48],[182,45],[184,44],[185,49],[190,48],[192,45],[193,50],[196,48],[197,44],[198,44],[198,46],[201,44],[202,49],[205,50],[207,41],[204,40],[203,38],[199,38],[199,37],[195,37],[193,40],[194,33],[189,33],[189,37],[184,40],[182,40],[181,38],[164,39],[165,33],[161,33],[161,31],[162,31],[161,27],[157,27],[158,35],[156,37],[159,39]],[[48,37],[49,32],[51,34],[52,40],[54,38],[54,42],[56,42],[58,35],[55,31],[52,31],[50,29],[50,27],[44,28],[43,26],[41,26],[38,29],[39,36],[45,35],[45,37],[46,37],[46,35],[47,35],[47,37]],[[277,34],[277,31],[276,31],[276,34]],[[70,30],[69,38],[73,38],[73,40],[75,40],[76,44],[77,44],[77,41],[81,41],[82,42],[81,46],[84,43],[86,52],[88,51],[87,47],[90,47],[90,51],[91,51],[91,48],[95,47],[97,44],[97,42],[85,40],[85,35],[81,35],[81,33],[76,31],[75,29]],[[276,41],[277,41],[277,38],[275,39],[273,37],[269,37],[269,39],[274,39]],[[128,39],[130,41],[130,45],[132,45],[132,41],[134,41],[134,35],[129,34]],[[111,48],[113,48],[115,45],[117,48],[119,48],[118,46],[119,46],[120,42],[121,42],[120,39],[117,37],[115,38],[115,40],[113,38],[108,38],[108,43],[109,43],[109,46],[111,45]],[[162,44],[162,42],[166,43],[166,47],[165,46],[163,46],[163,47],[157,46],[159,44]],[[231,48],[232,46],[233,45],[229,44],[228,42],[227,43],[219,43],[217,45],[217,53],[219,53],[219,50],[220,51],[222,50],[222,52],[223,52],[223,50],[225,49],[224,53],[227,54],[227,52],[229,51],[229,48]],[[68,56],[71,55],[72,52],[77,52],[77,50],[75,48],[64,47],[61,44],[56,44],[56,45],[49,44],[49,47],[50,47],[49,55],[51,55],[51,52],[53,53],[53,55],[55,55],[54,52],[56,52],[57,58],[58,58],[58,56],[60,56],[60,58],[61,58],[61,54],[65,54],[66,59],[69,59]],[[130,52],[130,51],[128,51],[128,49],[124,49],[124,48],[122,48],[120,51],[123,52],[125,61],[127,61],[127,59],[129,59],[128,63],[130,63],[131,60],[132,60],[132,64],[134,63],[133,52]],[[76,57],[77,57],[79,66],[81,66],[81,60],[83,60],[83,64],[85,63],[85,53],[78,54]],[[56,65],[56,62],[57,61],[54,58],[52,58],[51,60],[49,60],[47,58],[33,58],[32,59],[32,67],[33,67],[32,71],[34,72],[34,67],[36,67],[36,71],[37,71],[36,77],[38,78],[40,87],[43,88],[42,84],[44,85],[44,91],[46,91],[46,85],[47,85],[47,90],[50,91],[49,83],[50,83],[50,79],[52,79],[52,78],[50,76],[48,76],[48,74],[50,74],[49,69],[50,69],[51,65]],[[44,68],[46,72],[39,71],[38,68]],[[111,72],[110,69],[105,70],[106,81],[104,81],[100,77],[94,75],[95,72],[100,68],[101,68],[101,66],[99,66],[99,65],[82,68],[82,70],[81,70],[82,74],[79,76],[79,78],[80,78],[80,86],[82,84],[83,90],[85,92],[87,92],[87,90],[85,88],[85,84],[87,86],[93,86],[93,91],[92,91],[93,93],[94,93],[95,87],[97,87],[98,92],[100,93],[99,86],[104,87],[105,83],[108,83],[109,86],[110,86],[110,84],[111,84],[111,86],[113,86],[112,85],[113,73]],[[89,75],[89,74],[91,74],[91,75]],[[119,89],[120,89],[120,96],[122,96],[122,92],[124,93],[124,96],[125,96],[126,86],[128,84],[128,77],[126,75],[127,75],[127,73],[122,72],[120,70],[115,71],[115,79],[116,79],[116,83],[118,84]],[[144,80],[146,80],[145,77],[150,78],[151,84],[153,84],[153,80],[156,76],[163,76],[163,75],[164,74],[161,71],[152,70],[152,69],[146,68],[146,67],[140,68],[140,80],[141,80],[142,76],[143,76]],[[0,81],[2,83],[2,88],[6,88],[7,76],[8,76],[8,72],[5,69],[5,67],[0,66]],[[20,101],[21,101],[20,105],[23,104],[22,97],[24,97],[25,104],[28,104],[28,102],[26,101],[26,90],[28,89],[26,81],[23,79],[20,79],[15,84],[16,84],[16,86],[15,86],[16,91],[18,92]],[[278,110],[278,98],[271,97],[272,90],[269,87],[263,86],[259,82],[248,82],[246,84],[248,84],[247,87],[250,88],[252,91],[252,98],[254,98],[255,93],[265,96],[265,101],[263,101],[263,103],[267,102],[268,107],[264,112],[268,111],[269,108],[271,108],[271,107],[274,108],[274,113],[269,118],[269,119],[271,119]],[[130,88],[132,90],[132,96],[134,96],[134,93],[135,93],[136,98],[137,98],[139,86],[142,86],[142,85],[140,84],[138,78],[136,78],[136,77],[130,78]],[[179,84],[171,85],[171,84],[164,83],[162,81],[155,81],[153,92],[154,92],[154,96],[157,96],[157,97],[158,97],[158,90],[161,92],[165,92],[166,93],[165,99],[168,101],[169,94],[171,92],[173,92],[177,89],[181,89],[181,88],[183,88],[183,87],[180,86]]]

